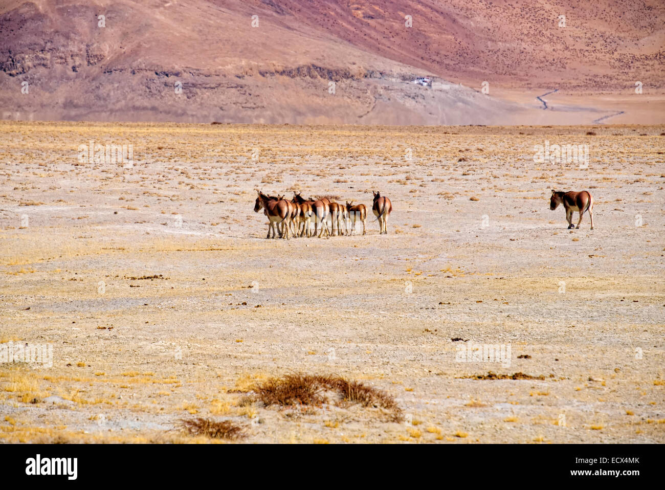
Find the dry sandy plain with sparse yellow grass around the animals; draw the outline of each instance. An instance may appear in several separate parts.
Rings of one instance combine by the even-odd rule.
[[[249,443],[662,443],[664,133],[0,122],[0,347],[53,345],[0,364],[0,441],[227,441],[182,428],[205,418]],[[588,168],[534,162],[546,140]],[[90,141],[133,164],[79,162]],[[589,189],[595,229],[552,188]],[[267,240],[255,189],[394,211]],[[510,361],[459,362],[469,342]],[[398,411],[257,401],[294,372]]]

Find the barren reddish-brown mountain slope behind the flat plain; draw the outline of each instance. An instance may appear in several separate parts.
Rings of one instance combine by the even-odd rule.
[[[539,1],[519,9],[496,2],[437,5],[5,2],[0,7],[1,115],[565,124],[571,122],[569,114],[539,107],[535,96],[543,93],[541,87],[630,94],[634,80],[640,80],[645,92],[662,88],[663,30],[657,26],[665,15],[656,3],[562,5],[565,28],[556,27],[559,10],[545,9]],[[104,27],[99,15],[104,15]],[[412,16],[412,27],[406,27],[406,15]],[[432,76],[432,88],[412,83],[424,75]],[[525,99],[501,98],[500,90],[481,94],[483,81],[493,88],[524,90]],[[21,92],[23,82],[28,83],[27,94]],[[586,102],[573,108],[581,111],[575,122],[607,114],[592,100]]]

